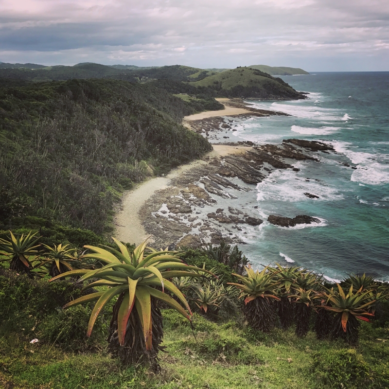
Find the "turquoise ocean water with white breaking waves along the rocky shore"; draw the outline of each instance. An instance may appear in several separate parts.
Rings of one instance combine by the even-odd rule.
[[[301,265],[328,280],[366,272],[389,281],[389,72],[282,78],[309,98],[249,101],[291,116],[248,119],[229,141],[318,140],[333,144],[337,153],[313,153],[320,162],[294,161],[300,172],[276,170],[257,185],[255,212],[265,222],[245,237],[244,253],[254,265]],[[269,214],[307,214],[320,223],[276,227],[266,221]]]

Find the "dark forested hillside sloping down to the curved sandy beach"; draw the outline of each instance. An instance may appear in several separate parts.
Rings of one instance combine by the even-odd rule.
[[[0,230],[26,216],[109,230],[121,191],[212,149],[180,124],[194,111],[151,85],[0,81]]]

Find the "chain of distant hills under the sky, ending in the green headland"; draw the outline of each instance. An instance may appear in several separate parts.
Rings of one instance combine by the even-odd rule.
[[[1,69],[0,65],[0,78],[33,82],[92,78],[116,79],[141,84],[159,82],[157,83],[158,88],[166,88],[170,93],[196,95],[196,103],[198,103],[198,99],[201,99],[201,105],[204,108],[210,106],[210,104],[211,106],[215,105],[216,102],[213,100],[215,96],[264,99],[302,98],[301,93],[291,88],[281,78],[274,78],[263,71],[246,67],[232,70],[208,70],[172,65],[146,69],[132,65],[107,66],[87,62],[74,66],[58,65],[40,69]],[[168,82],[161,83],[160,81]],[[195,87],[197,92],[189,91],[185,85],[191,85],[191,90]],[[204,96],[199,96],[199,94]]]

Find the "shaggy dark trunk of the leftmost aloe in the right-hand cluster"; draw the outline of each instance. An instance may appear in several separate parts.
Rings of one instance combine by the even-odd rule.
[[[266,297],[257,297],[255,300],[248,301],[243,312],[248,324],[254,330],[270,332],[274,328],[276,314]]]

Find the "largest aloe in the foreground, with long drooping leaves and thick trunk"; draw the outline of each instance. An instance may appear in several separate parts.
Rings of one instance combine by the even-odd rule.
[[[64,308],[77,304],[97,301],[91,313],[87,336],[90,336],[93,325],[104,307],[119,296],[113,307],[108,341],[109,350],[118,355],[124,364],[138,361],[150,361],[157,368],[157,354],[161,349],[162,317],[157,300],[176,309],[182,316],[191,320],[192,312],[183,294],[169,281],[172,277],[200,277],[191,272],[204,272],[195,266],[186,265],[179,259],[180,251],[157,251],[148,248],[143,242],[130,254],[126,246],[113,238],[119,250],[84,246],[92,251],[83,258],[94,258],[106,265],[94,270],[72,270],[50,281],[68,276],[81,276],[77,283],[97,279],[84,289],[104,286],[105,290],[90,293],[67,303]],[[165,293],[168,290],[181,302]]]

